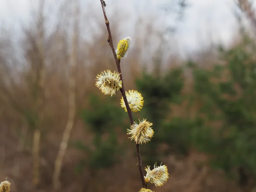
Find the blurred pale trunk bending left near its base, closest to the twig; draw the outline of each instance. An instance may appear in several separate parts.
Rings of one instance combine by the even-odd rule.
[[[73,48],[71,54],[71,65],[69,73],[69,110],[68,110],[68,122],[66,128],[63,132],[62,141],[60,142],[60,148],[58,155],[55,159],[55,167],[53,173],[53,187],[58,189],[60,187],[59,176],[62,168],[63,157],[66,153],[66,148],[69,142],[70,132],[74,126],[75,119],[75,87],[76,87],[76,68],[77,68],[77,46],[78,46],[78,16],[79,16],[79,6],[76,3],[74,9],[74,29],[73,29]]]

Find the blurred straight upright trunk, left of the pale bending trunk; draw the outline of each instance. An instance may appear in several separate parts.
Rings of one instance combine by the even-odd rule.
[[[38,75],[37,75],[37,124],[36,129],[33,135],[33,184],[37,186],[39,182],[39,165],[40,165],[40,138],[41,138],[41,129],[44,122],[44,17],[43,17],[43,7],[44,0],[40,1],[39,5],[39,19],[38,19],[38,49],[39,49],[39,66],[38,66]]]

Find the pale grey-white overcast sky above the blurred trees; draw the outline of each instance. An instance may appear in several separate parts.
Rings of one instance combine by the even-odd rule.
[[[4,26],[17,30],[19,23],[29,20],[31,2],[36,0],[0,0],[0,21]],[[105,0],[108,10],[111,7],[119,7],[121,10],[130,11],[134,18],[136,15],[154,13],[162,17],[161,6],[165,2],[175,0]],[[52,0],[49,2],[60,2]],[[84,0],[83,8],[97,7],[98,0]],[[189,51],[198,49],[202,44],[209,42],[209,36],[213,41],[228,43],[233,37],[236,25],[233,15],[234,0],[188,0],[190,7],[185,11],[183,22],[178,24],[176,40],[181,50]],[[101,12],[101,9],[95,9]],[[54,9],[48,10],[53,12]],[[102,14],[102,13],[101,13]],[[172,16],[165,17],[164,22],[172,22]]]

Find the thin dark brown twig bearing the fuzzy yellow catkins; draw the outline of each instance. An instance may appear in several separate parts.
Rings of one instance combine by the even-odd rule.
[[[108,31],[108,42],[109,42],[110,47],[112,49],[114,59],[116,61],[117,71],[118,71],[118,73],[120,73],[120,79],[122,81],[122,88],[120,89],[120,91],[122,93],[124,103],[125,103],[126,108],[127,108],[127,112],[128,112],[128,116],[130,118],[130,122],[131,122],[131,124],[133,124],[132,111],[129,107],[129,104],[128,104],[128,101],[127,101],[127,98],[126,98],[126,94],[125,94],[125,90],[124,90],[124,83],[123,83],[122,71],[121,71],[121,66],[120,66],[120,59],[117,59],[117,56],[116,56],[116,51],[114,49],[113,39],[112,39],[111,31],[110,31],[110,23],[108,21],[107,15],[106,15],[106,10],[105,10],[106,4],[105,4],[105,1],[103,1],[103,0],[100,0],[100,1],[101,1],[101,7],[102,7],[102,11],[103,11],[103,15],[104,15],[104,18],[105,18],[107,31]],[[137,165],[138,165],[139,172],[140,172],[140,178],[141,178],[141,181],[142,181],[142,186],[146,188],[146,183],[145,183],[144,175],[143,175],[142,160],[141,160],[141,157],[140,157],[139,144],[136,144],[136,151],[137,151],[137,160],[138,160]]]

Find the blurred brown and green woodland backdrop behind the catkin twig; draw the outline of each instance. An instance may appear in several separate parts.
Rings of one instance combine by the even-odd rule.
[[[77,49],[70,41],[72,22],[64,19],[46,34],[38,14],[33,25],[23,28],[21,42],[1,31],[0,179],[9,177],[15,191],[35,191],[32,153],[38,123],[37,188],[47,191],[51,186],[68,119],[74,55],[76,115],[60,174],[61,191],[139,191],[135,145],[126,135],[129,119],[119,104],[121,94],[105,96],[95,87],[96,75],[116,66],[102,13],[94,19],[97,31],[90,40],[79,34]],[[116,44],[123,38],[118,34],[120,18],[109,19]],[[212,46],[185,61],[164,52],[173,45],[164,43],[165,33],[155,30],[153,22],[138,19],[132,38],[133,47],[121,64],[124,85],[145,100],[134,120],[147,118],[155,132],[141,145],[143,166],[164,161],[170,172],[167,184],[155,191],[251,191],[256,185],[254,36],[238,29],[231,46]],[[22,51],[17,53],[15,46]],[[43,110],[37,103],[42,63]]]

